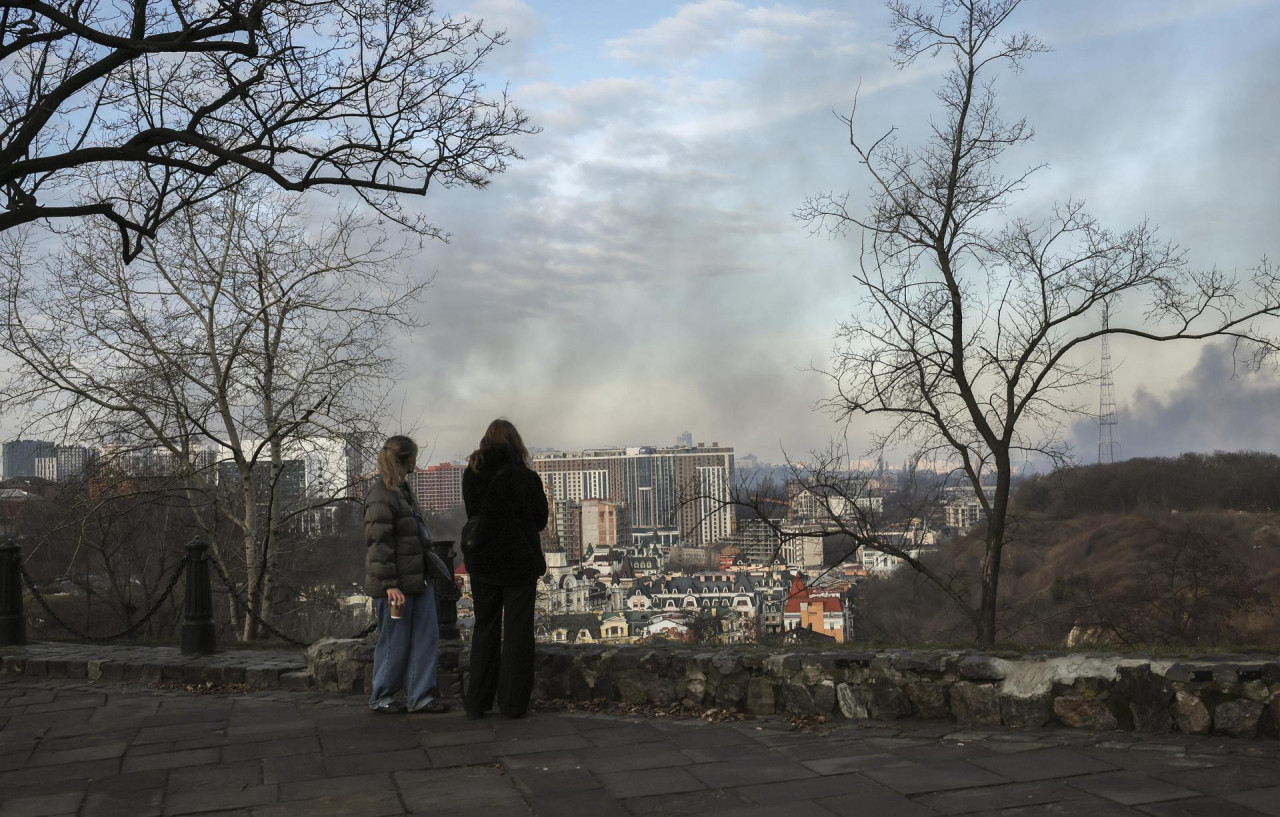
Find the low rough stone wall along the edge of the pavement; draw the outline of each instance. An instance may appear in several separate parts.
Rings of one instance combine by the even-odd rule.
[[[536,661],[535,694],[563,700],[974,726],[1280,734],[1280,657],[539,645]],[[442,647],[445,695],[462,688],[466,662],[466,648]],[[367,692],[372,644],[321,642],[308,651],[307,666],[321,689]]]

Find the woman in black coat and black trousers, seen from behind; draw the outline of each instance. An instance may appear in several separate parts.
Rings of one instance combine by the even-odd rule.
[[[507,420],[489,424],[462,473],[467,519],[479,516],[476,546],[465,556],[476,625],[467,680],[468,718],[494,698],[503,717],[522,717],[534,692],[534,599],[547,572],[539,531],[547,528],[543,480]]]

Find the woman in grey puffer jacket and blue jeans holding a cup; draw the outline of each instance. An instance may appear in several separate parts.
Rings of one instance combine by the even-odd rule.
[[[369,708],[385,715],[449,711],[435,698],[440,630],[426,575],[431,543],[425,537],[430,534],[408,487],[416,467],[417,444],[408,437],[392,437],[378,452],[379,479],[365,496],[365,593],[374,598],[378,616]],[[399,617],[392,617],[392,606]],[[407,706],[396,700],[401,689]]]

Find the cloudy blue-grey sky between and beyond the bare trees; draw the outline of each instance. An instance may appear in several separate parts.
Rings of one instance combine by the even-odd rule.
[[[431,461],[465,456],[494,416],[532,447],[669,444],[690,430],[780,461],[840,429],[827,396],[836,324],[855,307],[856,237],[810,236],[805,196],[867,178],[833,111],[905,140],[937,115],[941,60],[890,64],[881,3],[759,5],[440,0],[511,44],[492,85],[543,128],[485,191],[421,205],[452,234],[402,342],[393,425]],[[1019,213],[1079,197],[1105,225],[1143,218],[1199,266],[1280,255],[1280,0],[1027,0],[1012,26],[1053,51],[998,79],[1047,163]],[[1275,373],[1235,376],[1201,350],[1112,347],[1126,456],[1280,451],[1258,421]],[[1096,402],[1088,398],[1087,402]],[[1078,455],[1097,432],[1073,426]],[[851,429],[859,448],[864,430]]]

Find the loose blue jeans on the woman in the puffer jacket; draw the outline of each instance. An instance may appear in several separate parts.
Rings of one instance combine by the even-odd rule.
[[[440,627],[435,619],[435,590],[404,597],[399,619],[392,619],[385,598],[374,599],[378,616],[378,647],[374,648],[374,692],[369,707],[396,699],[404,690],[410,712],[435,699],[435,662],[440,647]]]

